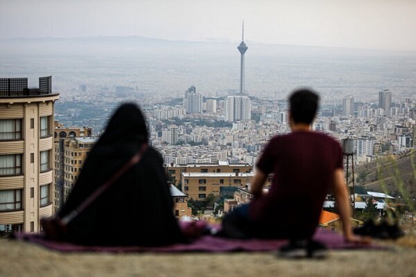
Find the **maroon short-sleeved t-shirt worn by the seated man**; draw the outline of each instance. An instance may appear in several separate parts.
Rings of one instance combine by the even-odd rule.
[[[256,233],[264,237],[309,238],[333,186],[333,172],[343,168],[343,151],[326,134],[296,131],[271,139],[257,168],[275,176],[269,193],[250,203]]]

